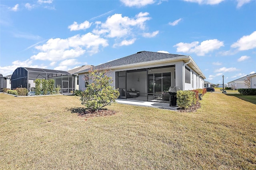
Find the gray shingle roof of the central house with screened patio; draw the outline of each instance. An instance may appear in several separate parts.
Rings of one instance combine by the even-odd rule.
[[[185,56],[185,55],[170,54],[170,53],[158,53],[158,52],[150,52],[150,51],[140,51],[138,53],[128,55],[128,56],[122,57],[120,59],[115,59],[113,61],[109,61],[107,63],[97,65],[94,67],[94,69],[110,68],[110,67],[115,67],[115,66],[120,66],[120,65],[142,63],[142,62],[146,62],[146,61],[154,61],[154,60],[168,59],[168,58],[181,57],[181,56]],[[88,69],[78,71],[76,73],[84,73],[86,71],[88,71]]]

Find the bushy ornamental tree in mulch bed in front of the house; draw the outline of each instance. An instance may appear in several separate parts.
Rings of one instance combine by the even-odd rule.
[[[119,97],[120,93],[110,85],[113,81],[108,75],[108,70],[96,69],[91,70],[86,76],[85,81],[88,85],[82,92],[80,101],[88,110],[97,112]]]

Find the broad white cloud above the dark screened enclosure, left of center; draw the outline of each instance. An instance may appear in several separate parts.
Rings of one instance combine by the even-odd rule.
[[[35,47],[40,52],[31,56],[31,59],[59,61],[75,58],[83,55],[85,52],[89,54],[98,53],[100,46],[108,46],[107,40],[92,33],[82,36],[75,35],[67,39],[51,38],[45,44]]]

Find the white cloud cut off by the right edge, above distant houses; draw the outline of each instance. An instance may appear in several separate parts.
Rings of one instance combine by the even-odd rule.
[[[232,48],[238,48],[239,51],[253,49],[256,47],[256,31],[249,36],[243,36],[237,42],[231,45]]]

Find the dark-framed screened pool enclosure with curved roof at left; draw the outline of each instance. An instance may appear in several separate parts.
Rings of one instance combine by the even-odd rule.
[[[68,94],[76,90],[76,76],[77,75],[70,74],[67,71],[18,67],[12,73],[11,88],[22,87],[27,88],[28,91],[32,91],[35,87],[36,79],[54,79],[54,87],[60,85],[62,94]]]

